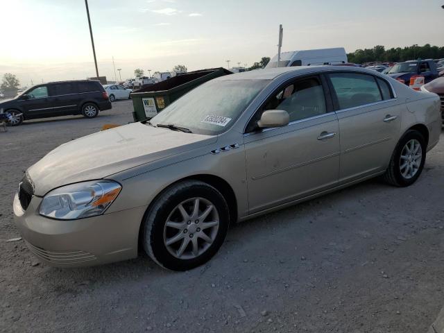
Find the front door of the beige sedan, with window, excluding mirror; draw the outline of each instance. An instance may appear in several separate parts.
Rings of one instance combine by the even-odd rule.
[[[339,125],[318,76],[275,91],[250,121],[244,143],[250,213],[334,187],[339,178]],[[264,110],[286,110],[290,123],[257,129]]]

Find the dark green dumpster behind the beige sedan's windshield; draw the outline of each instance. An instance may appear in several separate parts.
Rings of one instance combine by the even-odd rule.
[[[160,83],[135,90],[131,93],[134,121],[151,119],[191,89],[213,78],[228,74],[232,74],[232,72],[222,67],[201,69],[178,74]]]

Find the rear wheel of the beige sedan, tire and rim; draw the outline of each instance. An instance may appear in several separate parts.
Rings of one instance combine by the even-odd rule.
[[[409,130],[393,152],[384,180],[390,185],[406,187],[419,178],[425,163],[427,144],[417,130]]]

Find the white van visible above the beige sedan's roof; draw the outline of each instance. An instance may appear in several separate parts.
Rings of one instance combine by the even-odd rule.
[[[274,56],[265,68],[289,66],[338,65],[347,62],[347,53],[343,47],[334,49],[301,50],[280,53]]]

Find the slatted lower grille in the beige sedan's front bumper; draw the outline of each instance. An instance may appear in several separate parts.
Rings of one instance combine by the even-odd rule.
[[[40,257],[52,264],[56,264],[62,266],[64,264],[80,264],[83,262],[89,262],[91,260],[95,260],[96,256],[91,253],[87,253],[85,251],[49,251],[44,250],[38,246],[34,246],[26,242],[28,248],[35,254],[37,257]]]

